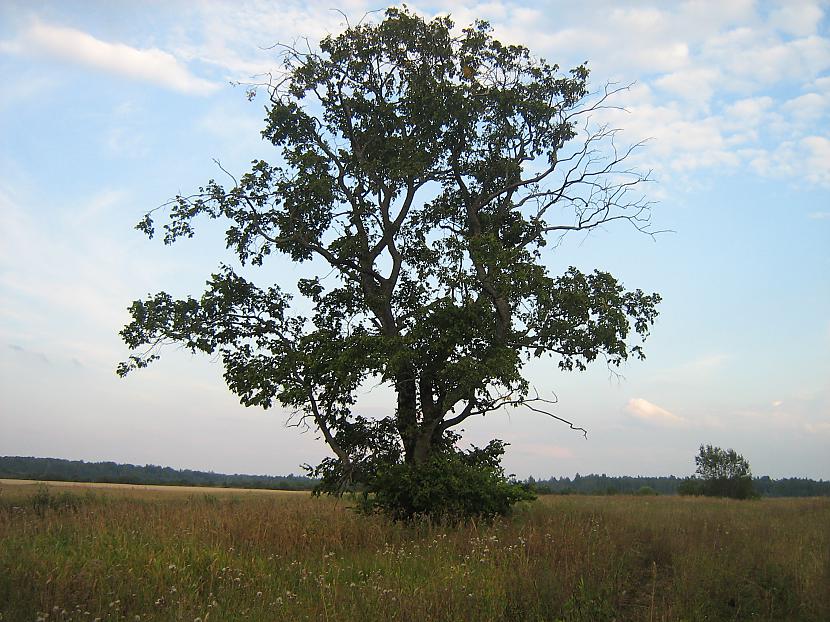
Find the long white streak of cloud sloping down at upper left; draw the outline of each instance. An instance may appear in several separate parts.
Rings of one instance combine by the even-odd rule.
[[[219,85],[194,76],[172,54],[110,43],[74,28],[33,22],[0,50],[67,61],[132,80],[150,82],[192,95],[206,95]]]

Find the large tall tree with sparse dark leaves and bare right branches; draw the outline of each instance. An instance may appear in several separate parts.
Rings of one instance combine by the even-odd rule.
[[[523,376],[528,360],[584,370],[643,358],[629,340],[657,315],[657,294],[602,271],[552,276],[543,261],[568,232],[615,221],[649,232],[634,147],[591,121],[614,91],[591,95],[584,65],[563,74],[486,22],[453,26],[391,8],[319,50],[280,47],[262,132],[276,163],[158,208],[166,244],[221,219],[242,265],[310,262],[319,276],[296,293],[313,312],[221,265],[198,300],[134,302],[121,333],[133,350],[121,375],[177,343],[218,354],[243,404],[292,409],[334,454],[315,469],[327,492],[371,489],[389,465],[500,455],[497,441],[459,453],[454,430],[503,407],[565,421]],[[154,212],[138,225],[150,237]],[[394,412],[356,412],[369,381],[394,390]]]

